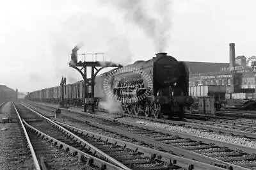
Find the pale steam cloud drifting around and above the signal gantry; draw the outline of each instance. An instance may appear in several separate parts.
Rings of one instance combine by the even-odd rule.
[[[116,37],[113,30],[115,30],[115,22],[90,13],[73,13],[67,20],[61,22],[59,29],[52,34],[51,42],[53,44],[50,54],[51,64],[54,66],[54,79],[61,79],[62,75],[67,77],[67,83],[83,79],[77,70],[68,66],[68,63],[70,66],[76,66],[70,57],[74,47],[79,48],[78,54],[105,52],[106,61],[111,60],[116,64],[131,63],[129,40],[123,36]],[[81,59],[81,56],[77,56],[77,62]],[[85,60],[92,61],[92,57],[86,56]],[[102,61],[102,58],[99,56],[97,60]],[[87,75],[90,76],[90,69]]]

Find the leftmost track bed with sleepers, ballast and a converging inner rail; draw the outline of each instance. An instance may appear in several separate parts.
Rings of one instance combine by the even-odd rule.
[[[23,106],[18,105],[17,108],[24,118],[24,126],[28,128],[36,157],[40,158],[38,162],[46,169],[124,169],[97,158],[101,155],[97,148],[90,147],[91,151],[87,151],[94,151],[92,155],[95,156],[85,153],[86,148],[83,146],[91,145],[77,139],[68,130],[52,127],[51,121],[48,122]]]

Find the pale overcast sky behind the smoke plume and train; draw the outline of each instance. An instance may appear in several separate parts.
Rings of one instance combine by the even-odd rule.
[[[58,86],[62,75],[68,83],[81,80],[68,66],[78,42],[84,42],[79,53],[106,52],[112,61],[152,58],[157,52],[152,39],[102,1],[0,1],[0,84],[26,92]],[[143,2],[150,15],[157,14],[153,0]],[[179,61],[228,63],[228,44],[234,42],[237,56],[256,56],[256,1],[170,2],[164,52]]]

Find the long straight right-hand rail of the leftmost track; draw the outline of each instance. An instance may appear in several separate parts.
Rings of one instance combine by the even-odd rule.
[[[107,158],[109,160],[109,162],[111,162],[112,164],[115,164],[119,167],[122,167],[123,169],[129,169],[129,167],[125,166],[124,164],[122,164],[121,162],[119,162],[118,160],[116,160],[115,158],[113,157],[110,157],[109,155],[107,155],[106,153],[104,153],[103,151],[99,150],[98,148],[96,148],[95,146],[93,146],[92,144],[90,143],[87,143],[86,141],[84,141],[83,139],[81,139],[81,137],[78,137],[77,135],[73,134],[72,132],[70,132],[69,130],[61,127],[60,125],[58,125],[57,123],[55,123],[54,121],[52,121],[51,119],[49,118],[46,118],[45,116],[43,116],[42,114],[40,114],[39,112],[36,112],[34,111],[33,109],[31,109],[30,107],[24,105],[24,104],[21,104],[23,105],[24,107],[26,107],[27,109],[29,109],[30,111],[32,112],[35,112],[35,114],[37,114],[38,116],[40,116],[41,118],[44,118],[45,120],[49,121],[52,123],[52,125],[55,125],[57,128],[59,128],[62,132],[64,133],[68,133],[70,135],[72,135],[74,137],[74,139],[76,139],[79,143],[83,143],[85,144],[86,146],[89,146],[91,148],[92,151],[95,152],[96,155],[99,155],[99,156],[103,156],[105,158]]]

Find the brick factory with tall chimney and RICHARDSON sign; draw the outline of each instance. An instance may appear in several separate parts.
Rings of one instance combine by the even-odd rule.
[[[186,62],[189,67],[190,95],[202,97],[215,93],[214,97],[221,99],[256,98],[256,57],[236,57],[235,44],[230,43],[229,46],[230,63]],[[209,87],[211,91],[207,91]]]

